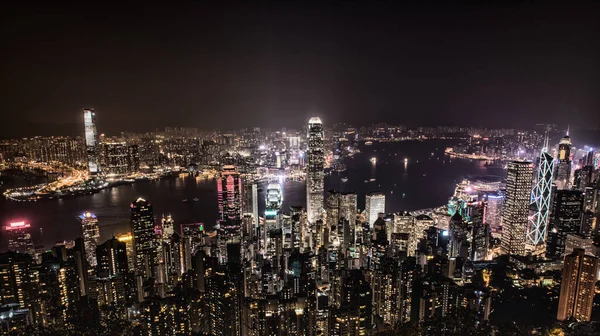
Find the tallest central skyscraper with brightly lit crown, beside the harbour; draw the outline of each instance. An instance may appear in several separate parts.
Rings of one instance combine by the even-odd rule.
[[[325,149],[323,124],[318,117],[308,121],[306,150],[306,212],[308,223],[314,225],[323,211]]]

